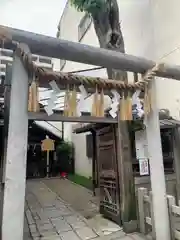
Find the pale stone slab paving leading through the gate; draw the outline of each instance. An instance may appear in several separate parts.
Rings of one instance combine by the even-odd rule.
[[[40,180],[27,182],[25,215],[33,240],[143,240],[138,234],[125,235],[119,226],[102,221],[101,216],[89,224]]]

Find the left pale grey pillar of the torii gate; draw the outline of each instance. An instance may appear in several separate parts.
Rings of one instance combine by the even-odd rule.
[[[24,47],[24,50],[26,51],[27,48]],[[11,83],[2,239],[23,240],[28,138],[28,74],[16,53],[12,65]]]

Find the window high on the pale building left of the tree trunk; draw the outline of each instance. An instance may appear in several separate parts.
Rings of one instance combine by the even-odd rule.
[[[89,14],[86,14],[80,21],[78,26],[78,40],[79,42],[83,39],[84,35],[90,28],[92,23],[92,18]]]

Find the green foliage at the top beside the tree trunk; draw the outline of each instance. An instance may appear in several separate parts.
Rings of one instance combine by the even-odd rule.
[[[107,7],[108,0],[71,0],[72,5],[80,12],[93,14]]]

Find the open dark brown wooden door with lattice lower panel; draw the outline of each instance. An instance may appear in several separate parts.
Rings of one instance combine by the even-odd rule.
[[[114,125],[97,130],[100,213],[121,224],[120,189]]]

